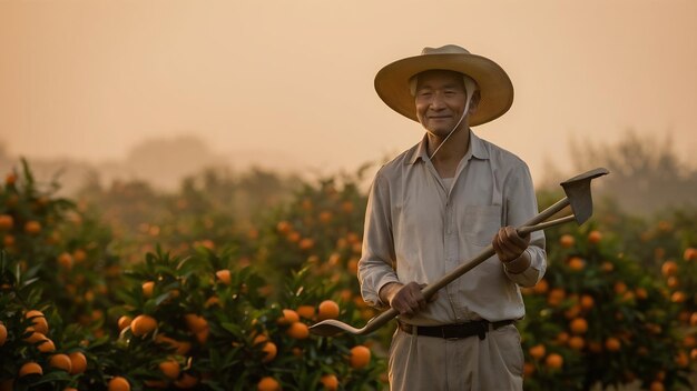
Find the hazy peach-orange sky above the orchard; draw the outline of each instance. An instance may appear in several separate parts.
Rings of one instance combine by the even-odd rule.
[[[445,43],[510,74],[513,107],[474,130],[533,177],[568,164],[569,140],[628,129],[697,162],[694,0],[0,0],[0,141],[100,161],[196,134],[351,170],[423,133],[377,98],[375,72]]]

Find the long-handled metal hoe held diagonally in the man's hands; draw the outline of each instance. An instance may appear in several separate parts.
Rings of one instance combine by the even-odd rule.
[[[528,234],[533,231],[539,231],[542,229],[547,229],[550,227],[559,225],[566,222],[576,221],[579,224],[582,224],[588,220],[593,212],[593,203],[590,193],[590,181],[595,178],[601,177],[609,173],[608,170],[603,168],[595,169],[588,172],[583,172],[579,176],[576,176],[571,179],[568,179],[561,182],[561,187],[563,188],[567,197],[557,201],[553,205],[547,208],[519,228],[517,228],[519,234]],[[552,215],[560,212],[562,209],[567,207],[571,207],[571,211],[573,214],[556,219],[549,220]],[[457,269],[451,271],[450,273],[443,275],[440,280],[424,287],[421,290],[424,298],[430,299],[435,292],[438,292],[441,288],[451,283],[452,281],[460,278],[462,274],[472,270],[474,267],[479,265],[483,261],[493,257],[495,251],[493,247],[489,244],[482,252],[480,252],[474,258],[462,262]],[[367,323],[361,328],[356,329],[352,325],[348,325],[344,322],[341,322],[335,319],[323,320],[316,324],[310,327],[310,331],[317,335],[323,337],[332,337],[340,332],[348,332],[355,335],[365,335],[377,329],[380,329],[383,324],[387,323],[390,320],[397,315],[397,311],[393,308],[384,311],[383,313],[374,317],[369,320]]]

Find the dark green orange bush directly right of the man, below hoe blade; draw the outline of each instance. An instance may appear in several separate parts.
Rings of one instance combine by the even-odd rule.
[[[608,225],[628,222],[616,212],[597,214]],[[547,274],[523,291],[526,388],[687,384],[689,360],[676,322],[681,303],[632,254],[637,243],[619,228],[600,231],[595,221],[547,237]]]

